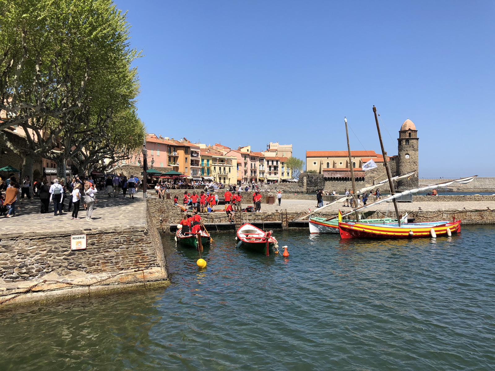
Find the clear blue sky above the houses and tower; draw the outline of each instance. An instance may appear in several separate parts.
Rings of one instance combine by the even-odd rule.
[[[420,177],[495,176],[494,1],[124,1],[148,132],[252,150],[397,153]],[[382,124],[382,123],[380,123]],[[388,132],[387,132],[388,131]],[[390,136],[389,134],[390,133]]]

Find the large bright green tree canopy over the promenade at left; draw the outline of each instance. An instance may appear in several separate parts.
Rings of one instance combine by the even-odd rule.
[[[131,68],[140,54],[129,46],[129,27],[110,0],[0,0],[0,109],[7,115],[0,139],[12,148],[1,131],[22,126],[31,169],[34,156],[49,157],[62,176],[65,160],[81,151],[85,164],[108,158],[92,143],[119,152],[137,141],[119,133],[144,131]],[[126,116],[132,119],[122,124]]]

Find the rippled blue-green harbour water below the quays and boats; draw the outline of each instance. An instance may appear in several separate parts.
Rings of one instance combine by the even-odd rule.
[[[1,370],[495,370],[495,227],[290,256],[164,236],[173,284],[0,315]]]

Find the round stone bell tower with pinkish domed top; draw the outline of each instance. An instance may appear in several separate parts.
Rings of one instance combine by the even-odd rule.
[[[419,184],[418,131],[411,120],[404,121],[399,130],[397,175],[415,171],[413,177],[398,182],[398,189],[417,188]]]

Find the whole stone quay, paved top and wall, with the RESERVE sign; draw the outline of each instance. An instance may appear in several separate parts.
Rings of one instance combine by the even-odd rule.
[[[39,214],[39,201],[0,220],[0,309],[169,283],[146,201],[98,198],[93,221]],[[85,250],[71,250],[73,234],[86,234]]]

